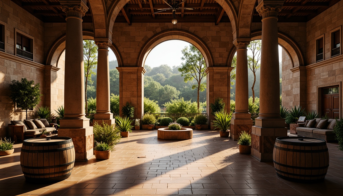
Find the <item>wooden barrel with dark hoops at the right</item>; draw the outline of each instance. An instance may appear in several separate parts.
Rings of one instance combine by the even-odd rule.
[[[326,141],[310,137],[276,138],[273,161],[276,174],[296,182],[324,180],[329,167]]]

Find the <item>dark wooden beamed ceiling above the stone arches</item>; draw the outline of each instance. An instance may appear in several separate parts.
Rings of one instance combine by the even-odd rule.
[[[36,16],[43,22],[66,22],[58,0],[12,0],[20,7]],[[285,0],[278,22],[307,22],[330,8],[340,0]],[[256,2],[257,5],[257,2]],[[87,1],[88,6],[88,1]],[[89,6],[88,6],[89,7]],[[180,6],[193,10],[176,10],[178,22],[230,22],[226,12],[215,0],[187,0]],[[163,0],[131,0],[119,12],[118,23],[171,22],[172,10],[155,13],[157,9],[169,8]],[[255,10],[253,22],[261,22]],[[91,9],[88,9],[83,22],[92,22]]]

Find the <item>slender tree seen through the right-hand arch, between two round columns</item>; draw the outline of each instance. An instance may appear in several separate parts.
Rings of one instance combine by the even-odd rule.
[[[256,71],[261,67],[261,40],[255,40],[250,42],[248,49],[251,50],[252,56],[248,55],[248,66],[254,74],[254,82],[252,83],[252,103],[255,103],[255,82],[256,82]]]

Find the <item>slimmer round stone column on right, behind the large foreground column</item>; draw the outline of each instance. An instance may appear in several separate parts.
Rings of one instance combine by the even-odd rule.
[[[230,137],[238,140],[239,134],[243,131],[251,133],[252,119],[248,107],[248,39],[236,39],[234,44],[237,51],[236,65],[236,105],[232,114]]]

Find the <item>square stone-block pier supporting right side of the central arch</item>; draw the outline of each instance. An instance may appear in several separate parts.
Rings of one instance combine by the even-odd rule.
[[[205,70],[207,81],[206,107],[209,124],[214,120],[211,115],[210,103],[214,103],[217,97],[223,99],[226,112],[230,112],[230,73],[232,69],[233,67],[208,67]]]

